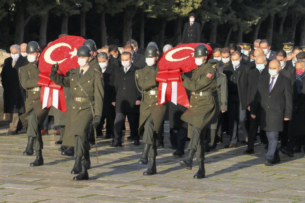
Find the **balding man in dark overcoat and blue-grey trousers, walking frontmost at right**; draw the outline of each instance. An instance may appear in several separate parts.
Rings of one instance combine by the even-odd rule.
[[[250,107],[252,118],[256,118],[260,104],[261,128],[266,131],[268,151],[265,155],[266,166],[281,161],[278,154],[278,133],[284,130],[284,122],[292,117],[291,79],[279,74],[280,61],[269,63],[269,75],[261,77],[253,104]]]

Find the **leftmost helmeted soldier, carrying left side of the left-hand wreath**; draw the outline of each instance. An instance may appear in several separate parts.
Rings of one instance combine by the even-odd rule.
[[[30,166],[43,165],[41,149],[43,142],[41,138],[41,128],[49,111],[42,109],[40,101],[41,87],[38,86],[40,70],[38,60],[40,57],[40,47],[37,42],[31,41],[27,44],[27,60],[29,63],[19,69],[19,79],[21,86],[27,90],[25,101],[25,114],[20,116],[20,120],[27,130],[28,142],[23,155],[31,156],[36,152],[36,160]]]

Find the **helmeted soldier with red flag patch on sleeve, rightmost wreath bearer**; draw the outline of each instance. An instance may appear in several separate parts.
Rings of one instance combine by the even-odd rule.
[[[192,170],[193,157],[196,152],[196,160],[199,163],[199,170],[194,175],[196,179],[205,177],[204,135],[201,135],[201,131],[206,128],[214,116],[215,105],[218,102],[214,100],[214,95],[217,94],[215,91],[217,89],[216,74],[212,64],[206,62],[208,54],[206,45],[199,44],[194,53],[198,67],[193,70],[192,79],[181,74],[182,86],[192,91],[192,96],[188,110],[181,116],[181,120],[188,122],[188,137],[191,138],[191,141],[188,144],[188,157],[181,160],[180,165]]]

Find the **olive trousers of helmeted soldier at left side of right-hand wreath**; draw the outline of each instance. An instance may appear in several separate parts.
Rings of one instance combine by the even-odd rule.
[[[144,124],[143,143],[150,145],[148,157],[155,157],[158,155],[156,146],[155,126],[153,124],[152,114],[147,117]]]

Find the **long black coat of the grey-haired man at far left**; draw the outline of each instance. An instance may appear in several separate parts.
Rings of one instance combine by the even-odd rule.
[[[4,113],[24,113],[26,90],[20,84],[18,71],[19,68],[29,63],[27,58],[20,55],[16,64],[12,66],[13,58],[4,60],[1,71],[1,82],[3,86]]]

